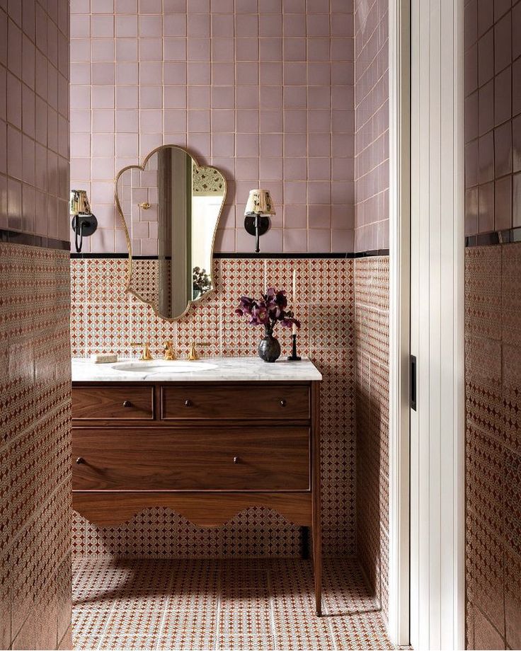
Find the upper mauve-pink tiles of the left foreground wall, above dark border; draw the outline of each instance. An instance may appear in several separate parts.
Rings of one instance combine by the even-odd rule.
[[[69,239],[69,3],[0,1],[0,229]]]

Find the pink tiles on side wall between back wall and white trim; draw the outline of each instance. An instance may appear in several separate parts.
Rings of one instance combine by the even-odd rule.
[[[355,0],[355,251],[389,248],[389,0]]]

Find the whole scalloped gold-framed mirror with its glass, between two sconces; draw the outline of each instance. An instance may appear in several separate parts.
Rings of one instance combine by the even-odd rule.
[[[214,237],[226,197],[217,168],[164,145],[116,177],[129,252],[127,290],[173,321],[214,290]]]

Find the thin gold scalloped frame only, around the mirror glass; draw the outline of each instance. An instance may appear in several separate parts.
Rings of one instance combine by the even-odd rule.
[[[195,168],[197,171],[199,170],[215,170],[219,172],[219,174],[222,176],[222,180],[224,182],[224,187],[223,187],[223,196],[222,196],[222,202],[221,202],[221,207],[219,209],[219,214],[217,215],[217,220],[215,222],[215,227],[214,227],[214,233],[212,236],[212,260],[210,264],[210,280],[212,282],[212,289],[209,289],[205,294],[202,294],[202,296],[197,296],[197,299],[192,299],[189,300],[186,306],[185,311],[183,313],[179,314],[178,316],[174,316],[171,318],[168,318],[166,316],[163,316],[162,314],[159,313],[157,310],[156,306],[152,301],[147,301],[145,300],[138,292],[134,291],[131,287],[131,282],[132,282],[132,241],[130,239],[130,234],[129,234],[129,229],[127,226],[127,220],[125,219],[125,214],[123,213],[121,204],[120,204],[120,198],[118,196],[118,181],[120,180],[122,174],[129,170],[140,170],[140,171],[145,171],[145,167],[147,166],[147,163],[149,159],[151,159],[154,154],[156,154],[158,151],[161,151],[161,149],[169,149],[171,147],[175,147],[176,149],[180,149],[181,151],[184,151],[185,154],[190,156],[190,158],[193,160],[193,163],[195,165]],[[114,186],[114,199],[115,199],[115,204],[118,209],[118,214],[120,216],[120,220],[123,224],[123,230],[125,231],[125,238],[127,240],[127,249],[128,249],[128,265],[127,265],[127,281],[126,281],[126,287],[125,291],[129,294],[132,294],[132,296],[135,296],[139,301],[142,301],[144,304],[147,304],[151,307],[151,309],[154,311],[154,314],[158,316],[159,318],[162,318],[164,321],[178,321],[180,318],[185,316],[185,314],[190,310],[190,308],[195,305],[196,303],[199,303],[202,301],[202,299],[206,299],[207,296],[211,296],[214,294],[216,291],[215,289],[215,280],[214,280],[214,270],[213,270],[213,252],[214,252],[214,246],[215,246],[215,236],[217,234],[217,227],[219,226],[219,219],[221,218],[222,211],[224,209],[224,204],[226,202],[226,196],[227,196],[227,180],[222,171],[219,170],[217,167],[213,167],[211,165],[200,165],[195,156],[188,151],[188,149],[185,149],[185,147],[181,147],[176,144],[164,144],[159,147],[156,147],[156,149],[152,149],[152,151],[149,151],[147,156],[144,157],[143,162],[141,165],[127,165],[126,167],[120,169],[118,174],[116,175],[115,178],[115,186]]]

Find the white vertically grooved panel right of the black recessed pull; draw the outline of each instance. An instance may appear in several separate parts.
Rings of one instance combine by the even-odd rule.
[[[463,2],[411,2],[411,644],[464,648]]]

